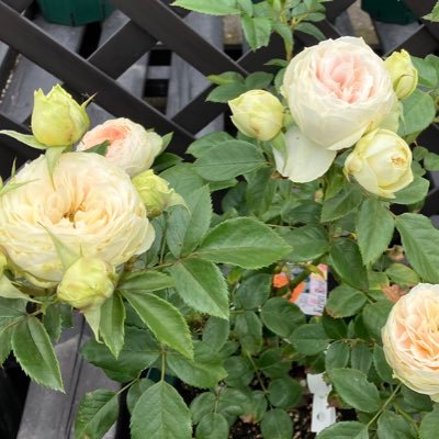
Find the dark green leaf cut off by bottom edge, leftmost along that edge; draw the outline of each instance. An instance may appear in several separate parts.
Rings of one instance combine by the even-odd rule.
[[[117,394],[105,390],[87,393],[75,421],[75,439],[101,439],[117,420]]]

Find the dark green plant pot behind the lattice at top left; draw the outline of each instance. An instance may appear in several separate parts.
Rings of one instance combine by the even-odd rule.
[[[47,21],[71,26],[103,21],[114,10],[106,0],[37,0],[37,3]]]

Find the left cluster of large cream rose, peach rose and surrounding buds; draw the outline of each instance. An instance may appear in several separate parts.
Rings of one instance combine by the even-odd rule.
[[[86,104],[60,86],[35,92],[32,142],[48,153],[25,165],[0,198],[1,272],[8,266],[36,286],[56,288],[59,301],[78,309],[113,293],[116,268],[154,241],[149,218],[182,203],[149,169],[162,138],[127,119],[87,131]],[[87,151],[99,146],[104,156]],[[65,154],[50,169],[54,149]]]

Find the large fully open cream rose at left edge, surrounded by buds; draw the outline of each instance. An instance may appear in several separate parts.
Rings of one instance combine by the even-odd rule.
[[[113,266],[150,247],[154,228],[136,189],[104,157],[63,154],[53,179],[41,156],[15,176],[15,183],[27,183],[0,198],[0,243],[19,269],[37,280],[61,280],[48,232],[77,255]]]

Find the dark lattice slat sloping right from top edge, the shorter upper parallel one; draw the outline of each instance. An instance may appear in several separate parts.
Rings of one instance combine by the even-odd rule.
[[[181,18],[159,0],[115,0],[114,4],[136,24],[161,41],[203,75],[218,71],[247,71],[203,40]]]

